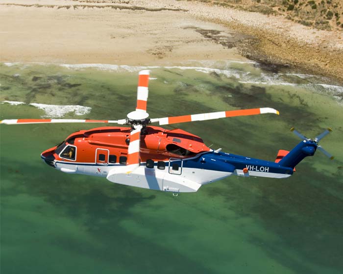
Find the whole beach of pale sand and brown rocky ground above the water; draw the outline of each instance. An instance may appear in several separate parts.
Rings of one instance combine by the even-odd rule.
[[[245,60],[343,80],[342,31],[189,1],[1,0],[0,61],[180,64]]]

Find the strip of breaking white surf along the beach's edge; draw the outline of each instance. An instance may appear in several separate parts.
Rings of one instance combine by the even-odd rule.
[[[211,62],[209,60],[203,61],[190,61],[182,64],[182,66],[128,66],[128,65],[113,65],[113,64],[56,64],[56,63],[42,63],[42,62],[25,62],[25,63],[2,63],[0,67],[16,67],[17,69],[26,69],[31,66],[46,66],[49,68],[59,67],[66,68],[68,70],[87,70],[92,69],[99,71],[115,71],[119,73],[137,73],[142,69],[180,69],[181,71],[194,70],[196,72],[205,74],[214,74],[216,77],[221,75],[227,78],[234,79],[238,84],[247,85],[262,85],[264,87],[271,86],[290,86],[294,88],[314,89],[319,93],[323,92],[330,97],[333,97],[340,105],[343,103],[343,86],[332,83],[326,76],[298,73],[296,71],[289,71],[288,69],[278,70],[278,68],[267,68],[265,64],[255,61],[226,61],[226,62]],[[241,67],[240,67],[241,66]],[[243,67],[242,67],[243,66]],[[220,68],[219,68],[220,67]],[[261,74],[257,75],[256,71],[251,73],[249,70],[263,69]],[[278,72],[273,71],[278,70]],[[264,71],[264,72],[263,72]],[[19,74],[13,76],[19,77]],[[295,77],[295,78],[287,78]],[[157,78],[150,78],[150,80],[156,80]],[[7,99],[6,99],[7,100]]]

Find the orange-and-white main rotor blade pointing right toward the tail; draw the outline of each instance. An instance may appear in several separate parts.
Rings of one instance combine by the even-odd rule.
[[[164,117],[164,118],[155,118],[151,119],[151,122],[159,122],[160,125],[170,125],[175,123],[184,123],[184,122],[194,122],[194,121],[204,121],[219,119],[225,117],[235,117],[235,116],[247,116],[247,115],[258,115],[273,113],[279,115],[280,113],[277,110],[272,108],[258,108],[258,109],[248,109],[248,110],[237,110],[237,111],[223,111],[223,112],[212,112],[212,113],[202,113],[202,114],[192,114],[184,116],[173,116],[173,117]]]

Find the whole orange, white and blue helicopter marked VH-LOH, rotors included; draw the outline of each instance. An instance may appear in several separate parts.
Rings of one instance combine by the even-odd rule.
[[[230,175],[288,178],[295,166],[317,149],[331,160],[319,141],[332,130],[311,139],[291,129],[301,141],[291,150],[279,150],[275,161],[212,150],[203,140],[181,129],[152,126],[203,121],[225,117],[277,114],[273,108],[231,110],[163,118],[147,113],[149,70],[139,72],[136,110],[119,120],[7,119],[1,124],[115,123],[126,127],[98,127],[74,132],[41,158],[51,167],[69,174],[105,177],[113,183],[172,192],[196,192],[200,186]],[[129,127],[127,127],[129,126]]]

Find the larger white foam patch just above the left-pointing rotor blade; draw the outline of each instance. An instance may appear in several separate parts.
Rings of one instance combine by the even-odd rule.
[[[63,117],[67,113],[74,112],[75,115],[84,115],[89,114],[92,108],[84,106],[73,106],[73,105],[46,105],[46,104],[37,104],[31,103],[31,106],[34,106],[38,109],[44,110],[46,115],[44,117]]]

